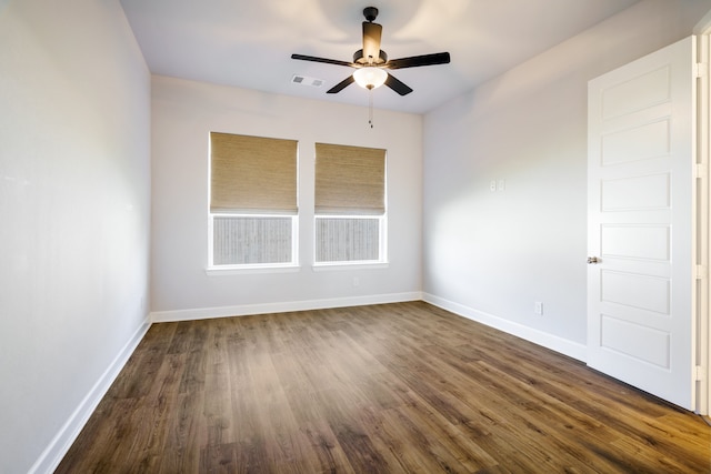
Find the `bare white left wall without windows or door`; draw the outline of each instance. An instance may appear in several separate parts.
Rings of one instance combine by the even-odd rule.
[[[0,2],[0,473],[51,471],[148,327],[149,153],[118,1]]]

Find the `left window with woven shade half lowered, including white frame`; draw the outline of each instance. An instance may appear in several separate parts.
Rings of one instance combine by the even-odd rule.
[[[210,133],[210,266],[296,265],[297,142]]]

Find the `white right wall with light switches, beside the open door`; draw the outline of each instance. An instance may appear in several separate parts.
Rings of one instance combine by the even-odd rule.
[[[584,359],[588,81],[710,8],[644,0],[425,117],[428,301]]]

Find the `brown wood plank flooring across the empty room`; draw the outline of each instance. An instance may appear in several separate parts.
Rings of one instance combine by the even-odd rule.
[[[57,473],[708,473],[711,427],[422,302],[154,324]]]

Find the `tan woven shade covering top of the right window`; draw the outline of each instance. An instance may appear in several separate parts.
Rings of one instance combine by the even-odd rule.
[[[316,213],[382,215],[385,150],[316,144]]]

